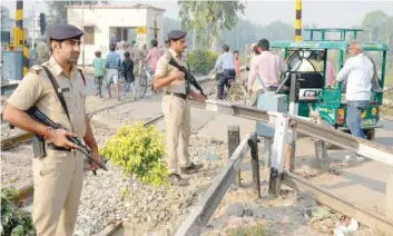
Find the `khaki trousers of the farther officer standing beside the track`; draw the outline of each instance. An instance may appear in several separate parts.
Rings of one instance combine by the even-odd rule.
[[[169,174],[178,174],[178,159],[180,165],[188,167],[188,141],[191,135],[190,106],[187,100],[173,95],[163,98],[163,112],[166,128],[166,160]]]

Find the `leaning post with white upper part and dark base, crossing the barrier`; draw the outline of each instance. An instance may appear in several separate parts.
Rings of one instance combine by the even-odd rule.
[[[268,193],[278,197],[281,184],[284,177],[284,161],[285,161],[285,145],[288,132],[289,119],[278,114],[276,119],[276,128],[274,134],[273,156],[271,166],[271,178]]]

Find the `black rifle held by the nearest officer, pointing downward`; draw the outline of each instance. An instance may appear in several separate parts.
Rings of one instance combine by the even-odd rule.
[[[51,127],[52,129],[65,129],[60,124],[53,122],[53,120],[51,120],[49,117],[47,117],[45,114],[42,114],[39,109],[37,109],[37,107],[31,107],[30,109],[28,109],[26,111],[31,118],[33,118],[35,120],[37,120],[40,124],[43,124],[46,126]],[[78,145],[78,151],[80,151],[82,155],[85,155],[89,163],[95,163],[97,164],[97,166],[99,166],[101,169],[104,170],[108,170],[107,167],[105,166],[105,163],[107,163],[107,160],[105,158],[101,157],[101,161],[97,161],[92,155],[89,148],[87,148],[78,138],[76,137],[70,137],[67,136],[67,138],[72,141],[73,144]],[[97,175],[96,170],[92,170],[92,173],[95,175]]]

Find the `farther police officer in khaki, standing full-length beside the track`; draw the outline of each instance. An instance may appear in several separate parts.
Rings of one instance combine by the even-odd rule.
[[[185,73],[169,65],[169,59],[174,58],[180,66],[186,67],[181,53],[187,47],[187,32],[173,30],[168,33],[169,49],[157,61],[154,88],[163,89],[163,111],[166,127],[166,153],[167,165],[169,169],[169,181],[174,185],[186,186],[188,181],[179,175],[178,158],[180,158],[181,171],[193,174],[203,167],[202,164],[194,164],[189,159],[189,137],[191,135],[190,126],[190,106],[188,96],[204,101],[205,97],[190,90],[186,94]]]

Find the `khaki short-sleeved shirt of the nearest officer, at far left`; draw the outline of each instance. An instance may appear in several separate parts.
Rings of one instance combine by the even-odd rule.
[[[62,89],[71,122],[63,111],[55,88],[41,66],[33,66],[31,68],[38,75],[28,72],[8,99],[8,102],[20,110],[27,110],[36,106],[51,120],[61,124],[67,130],[77,134],[78,138],[82,139],[86,134],[86,94],[80,72],[77,67],[72,67],[70,78],[67,78],[53,57],[42,65],[48,67]]]

